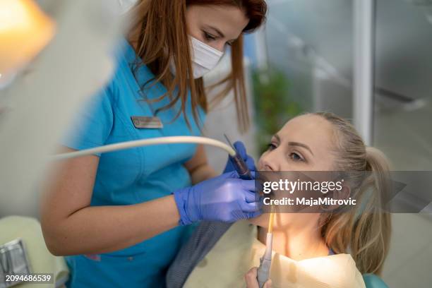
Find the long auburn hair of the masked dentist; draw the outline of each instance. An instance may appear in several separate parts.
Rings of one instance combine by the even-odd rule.
[[[208,100],[205,93],[203,78],[193,79],[191,52],[189,51],[188,30],[186,25],[186,8],[191,5],[236,6],[241,8],[249,19],[243,32],[256,30],[265,20],[267,5],[265,0],[140,0],[126,17],[130,21],[129,39],[133,37],[134,47],[141,63],[146,65],[155,78],[143,83],[141,90],[157,82],[164,84],[167,93],[154,101],[169,97],[169,104],[159,109],[169,109],[181,102],[181,109],[174,119],[184,114],[186,123],[186,101],[188,92],[191,94],[193,119],[200,123],[198,106],[208,112]],[[175,76],[170,73],[169,62],[174,60]],[[246,88],[243,68],[243,36],[240,35],[231,47],[232,71],[219,83],[210,86],[215,88],[222,85],[222,90],[213,101],[220,102],[228,92],[234,91],[237,119],[240,131],[246,131],[250,124]],[[135,70],[137,71],[137,70]],[[174,93],[175,91],[175,93]],[[157,111],[158,112],[158,111]]]

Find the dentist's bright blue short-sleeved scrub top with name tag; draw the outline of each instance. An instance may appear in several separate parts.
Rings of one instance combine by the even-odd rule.
[[[199,136],[193,120],[190,95],[186,105],[191,128],[183,114],[173,121],[181,102],[159,112],[163,128],[136,128],[131,116],[154,116],[169,97],[149,103],[166,92],[161,83],[140,91],[140,85],[155,76],[147,66],[133,73],[138,56],[126,40],[116,53],[116,71],[107,87],[92,97],[88,107],[77,115],[79,124],[68,134],[64,145],[76,150],[130,140],[164,136]],[[135,77],[135,76],[136,77]],[[138,85],[139,83],[139,85]],[[203,109],[198,109],[204,121]],[[191,185],[183,164],[196,152],[197,145],[171,144],[109,152],[100,156],[91,205],[131,205],[170,195]],[[145,219],[140,223],[145,224]],[[164,287],[164,273],[179,250],[190,227],[168,232],[121,251],[92,256],[69,256],[71,268],[68,287]],[[116,234],[116,227],[112,227]]]

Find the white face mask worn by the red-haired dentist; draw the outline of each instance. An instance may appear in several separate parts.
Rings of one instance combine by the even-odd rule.
[[[201,78],[208,72],[212,71],[213,68],[219,63],[224,52],[200,42],[200,40],[190,36],[191,38],[191,57],[192,57],[192,70],[193,78]],[[176,73],[176,66],[174,61],[171,59],[171,73]]]

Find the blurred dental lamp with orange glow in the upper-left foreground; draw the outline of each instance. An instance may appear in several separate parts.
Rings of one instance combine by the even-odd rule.
[[[45,7],[51,18],[35,0],[0,0],[0,217],[37,215],[49,155],[111,77],[123,33],[118,0]]]

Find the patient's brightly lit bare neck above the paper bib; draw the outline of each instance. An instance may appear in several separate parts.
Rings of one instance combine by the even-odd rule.
[[[311,217],[301,217],[296,214],[293,217],[299,221],[293,221],[293,224],[283,228],[273,229],[272,250],[293,260],[303,260],[328,255],[328,247],[325,245],[318,227],[318,215],[316,221],[311,221]],[[309,214],[309,216],[311,216]],[[275,223],[277,217],[275,215]],[[301,221],[306,220],[307,221]],[[258,227],[258,240],[265,244],[267,229]]]

